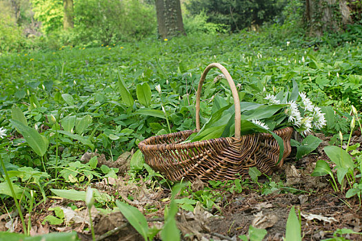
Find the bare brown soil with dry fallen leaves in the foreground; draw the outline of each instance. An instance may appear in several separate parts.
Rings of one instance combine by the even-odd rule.
[[[221,187],[221,200],[215,201],[214,207],[205,209],[200,202],[194,211],[179,209],[177,227],[183,240],[239,240],[239,235],[248,235],[250,225],[266,229],[265,240],[282,240],[285,236],[285,225],[292,206],[301,216],[303,240],[324,240],[336,238],[343,229],[354,232],[362,231],[362,211],[359,200],[345,198],[344,193],[335,192],[325,177],[310,176],[316,160],[328,160],[323,146],[328,145],[330,137],[318,134],[323,143],[314,154],[295,161],[285,160],[283,167],[272,174],[269,185],[267,179],[257,183],[249,182],[241,193],[232,193]],[[352,138],[352,143],[361,143],[361,134]],[[292,155],[291,155],[292,156]],[[123,198],[129,205],[137,207],[147,218],[150,226],[163,226],[163,212],[170,200],[170,189],[157,181],[141,178],[130,182],[130,176],[103,180],[92,187],[108,193],[110,196]],[[274,183],[277,185],[270,185]],[[204,189],[208,184],[196,180],[190,188],[192,192]],[[76,189],[76,187],[74,187]],[[262,188],[269,188],[268,195],[261,194]],[[180,196],[178,198],[181,198]],[[50,207],[63,209],[65,221],[51,225],[41,223],[46,216],[52,214]],[[76,207],[76,208],[74,208]],[[74,202],[59,197],[49,198],[34,209],[32,229],[30,233],[43,234],[51,231],[77,231],[81,240],[91,240],[90,220],[84,202]],[[103,210],[103,211],[102,211]],[[97,240],[143,240],[142,236],[123,218],[119,211],[106,212],[105,209],[92,208],[94,229]],[[5,214],[0,216],[0,230],[6,230]],[[339,231],[338,231],[339,230]],[[14,224],[14,231],[21,232],[21,222]],[[362,240],[358,234],[344,234],[349,240]],[[155,240],[159,240],[156,236]],[[337,240],[337,239],[335,239]],[[339,240],[339,239],[338,239]]]

